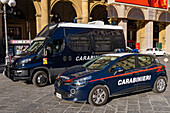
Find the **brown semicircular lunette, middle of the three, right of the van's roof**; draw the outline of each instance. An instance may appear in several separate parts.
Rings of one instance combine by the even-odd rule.
[[[145,16],[143,11],[140,8],[131,8],[127,13],[127,18],[129,19],[137,19],[137,20],[145,20]]]

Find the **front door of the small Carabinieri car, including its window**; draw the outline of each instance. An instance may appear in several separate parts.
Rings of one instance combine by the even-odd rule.
[[[107,80],[111,89],[111,95],[120,95],[124,93],[130,93],[137,90],[136,84],[133,83],[133,72],[135,69],[135,56],[127,56],[116,62],[110,69],[110,73],[113,78]],[[116,67],[122,67],[122,72],[116,72]]]

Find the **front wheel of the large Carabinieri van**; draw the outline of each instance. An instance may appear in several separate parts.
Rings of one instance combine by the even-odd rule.
[[[37,71],[32,79],[32,82],[37,87],[43,87],[48,84],[48,76],[44,71]]]

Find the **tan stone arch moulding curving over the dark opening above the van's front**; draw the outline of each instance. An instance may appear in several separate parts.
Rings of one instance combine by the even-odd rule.
[[[54,5],[59,2],[59,1],[70,1],[72,3],[72,6],[74,7],[75,11],[76,11],[76,14],[77,14],[77,17],[81,17],[82,15],[82,11],[81,11],[81,8],[80,6],[78,5],[77,1],[75,0],[51,0],[51,3],[50,3],[50,13],[54,7]],[[49,13],[49,14],[50,14]]]

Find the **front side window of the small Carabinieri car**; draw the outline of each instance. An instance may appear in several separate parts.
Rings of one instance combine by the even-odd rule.
[[[135,68],[135,56],[128,56],[119,60],[112,69],[115,67],[123,67],[124,70],[129,70]]]

